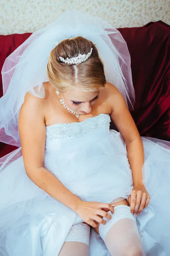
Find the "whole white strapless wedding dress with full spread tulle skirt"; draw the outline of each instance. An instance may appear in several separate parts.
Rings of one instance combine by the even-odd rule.
[[[109,130],[101,113],[83,122],[46,127],[44,166],[84,201],[128,198],[133,180],[121,134]],[[150,204],[136,218],[147,256],[170,255],[170,147],[141,137],[144,184]],[[83,220],[26,175],[21,148],[0,169],[0,256],[57,256],[73,224]],[[15,160],[15,157],[17,158]],[[104,241],[90,234],[90,256],[110,256]]]

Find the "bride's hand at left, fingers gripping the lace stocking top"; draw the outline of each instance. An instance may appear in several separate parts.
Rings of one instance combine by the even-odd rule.
[[[111,215],[106,211],[114,212],[111,204],[98,203],[98,202],[84,202],[81,201],[75,212],[92,227],[98,227],[98,224],[106,224],[103,217],[111,219]]]

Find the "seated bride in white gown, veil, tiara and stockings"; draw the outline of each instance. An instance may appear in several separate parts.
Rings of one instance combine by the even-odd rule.
[[[167,256],[170,143],[138,133],[120,32],[67,11],[2,76],[0,140],[18,149],[0,160],[0,256]]]

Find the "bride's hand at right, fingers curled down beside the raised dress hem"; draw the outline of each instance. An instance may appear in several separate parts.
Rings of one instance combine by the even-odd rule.
[[[136,215],[139,215],[139,213],[141,213],[141,211],[148,206],[150,201],[150,195],[147,192],[144,184],[140,183],[133,186],[133,190],[128,199],[132,214],[136,213]]]

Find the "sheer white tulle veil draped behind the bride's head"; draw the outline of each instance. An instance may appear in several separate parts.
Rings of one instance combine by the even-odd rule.
[[[99,17],[69,10],[49,26],[34,32],[6,58],[2,68],[4,95],[0,99],[1,142],[20,147],[18,115],[24,96],[29,91],[44,98],[43,82],[49,81],[46,74],[49,53],[57,42],[77,36],[95,43],[104,63],[106,80],[118,88],[133,110],[135,93],[130,54],[121,33]],[[35,86],[38,86],[36,91]]]

